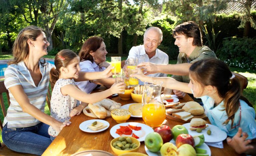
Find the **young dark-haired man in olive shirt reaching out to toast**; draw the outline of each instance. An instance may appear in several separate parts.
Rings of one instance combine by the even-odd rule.
[[[172,78],[181,81],[189,82],[189,68],[192,63],[206,59],[216,58],[215,53],[208,48],[203,46],[202,36],[199,26],[193,22],[184,22],[176,26],[173,30],[173,37],[175,45],[179,47],[178,61],[176,65],[160,65],[152,64],[149,62],[141,63],[138,67],[142,67],[145,70],[143,72],[148,75],[152,73],[164,73],[172,74]],[[178,97],[184,97],[185,93],[178,90],[173,90]]]

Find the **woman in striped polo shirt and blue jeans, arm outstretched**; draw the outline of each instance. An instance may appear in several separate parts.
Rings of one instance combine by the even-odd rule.
[[[60,131],[70,121],[59,122],[44,113],[49,72],[54,65],[43,56],[47,55],[49,42],[44,31],[29,26],[19,32],[14,45],[13,57],[4,72],[4,84],[9,90],[10,106],[3,122],[2,138],[5,145],[16,152],[42,155],[50,145],[49,125]],[[79,80],[107,78],[111,66],[104,72],[79,72]]]

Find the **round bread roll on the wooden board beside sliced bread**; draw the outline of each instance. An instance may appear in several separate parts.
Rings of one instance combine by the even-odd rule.
[[[192,115],[202,115],[204,113],[203,106],[195,101],[186,102],[182,109],[186,112],[190,112]]]

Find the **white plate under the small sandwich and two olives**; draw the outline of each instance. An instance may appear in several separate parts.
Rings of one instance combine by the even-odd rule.
[[[195,130],[190,130],[189,126],[190,123],[183,124],[184,127],[187,128],[188,133],[192,136],[199,135],[201,133],[204,134],[204,142],[220,142],[227,138],[227,133],[223,130],[221,130],[219,127],[214,126],[212,124],[207,124],[208,127],[206,129],[203,129],[201,133],[197,133]],[[212,131],[211,135],[207,134],[207,130],[210,128]]]

